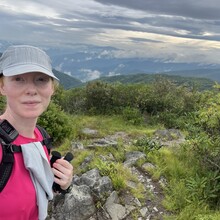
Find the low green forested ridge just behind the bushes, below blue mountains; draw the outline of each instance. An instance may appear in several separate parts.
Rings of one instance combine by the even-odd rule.
[[[206,78],[197,78],[197,77],[183,77],[177,75],[167,75],[167,74],[134,74],[134,75],[118,75],[111,77],[101,77],[98,80],[114,83],[120,82],[124,84],[128,83],[152,83],[155,80],[158,80],[160,77],[168,79],[174,82],[176,85],[183,85],[192,87],[197,86],[200,90],[209,90],[212,89],[214,81]],[[95,81],[95,80],[94,80]]]

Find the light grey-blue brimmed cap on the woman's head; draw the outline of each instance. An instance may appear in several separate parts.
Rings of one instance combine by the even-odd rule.
[[[59,80],[52,71],[50,57],[38,47],[16,45],[4,51],[0,58],[1,74],[15,76],[31,72],[41,72]]]

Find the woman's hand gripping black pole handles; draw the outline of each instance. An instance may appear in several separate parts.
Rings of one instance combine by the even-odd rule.
[[[57,159],[52,168],[54,182],[60,185],[62,190],[66,190],[72,183],[73,166],[67,160]]]

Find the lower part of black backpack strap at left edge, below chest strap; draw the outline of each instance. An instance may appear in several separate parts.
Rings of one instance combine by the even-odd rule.
[[[2,161],[0,165],[0,192],[6,186],[11,175],[14,164],[13,152],[9,149],[9,145],[2,144]]]

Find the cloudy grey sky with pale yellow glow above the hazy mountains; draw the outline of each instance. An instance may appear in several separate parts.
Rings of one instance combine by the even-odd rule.
[[[0,0],[0,40],[220,64],[219,0]]]

